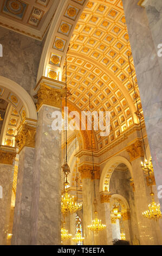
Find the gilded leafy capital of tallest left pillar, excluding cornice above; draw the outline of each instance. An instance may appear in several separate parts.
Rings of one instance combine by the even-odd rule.
[[[49,105],[61,108],[61,98],[66,94],[65,89],[57,89],[47,86],[44,82],[40,84],[37,94],[34,96],[37,99],[37,111],[42,105]]]

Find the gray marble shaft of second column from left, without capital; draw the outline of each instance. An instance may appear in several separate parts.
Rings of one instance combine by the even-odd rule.
[[[12,245],[30,245],[33,172],[34,148],[24,147],[19,154]]]

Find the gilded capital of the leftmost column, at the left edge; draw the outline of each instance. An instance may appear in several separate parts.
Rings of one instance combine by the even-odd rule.
[[[0,163],[12,165],[15,157],[16,157],[16,148],[1,145]]]

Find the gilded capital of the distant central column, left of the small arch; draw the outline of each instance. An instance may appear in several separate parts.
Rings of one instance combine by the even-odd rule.
[[[94,166],[94,179],[100,179],[100,167]],[[79,172],[81,173],[82,179],[93,179],[93,166],[89,164],[82,164],[79,167]]]

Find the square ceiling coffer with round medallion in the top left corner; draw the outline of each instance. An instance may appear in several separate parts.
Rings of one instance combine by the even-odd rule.
[[[2,13],[15,17],[16,19],[23,19],[28,4],[18,0],[5,0],[2,8]]]

